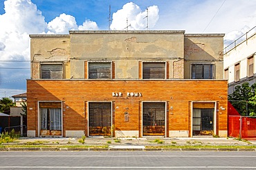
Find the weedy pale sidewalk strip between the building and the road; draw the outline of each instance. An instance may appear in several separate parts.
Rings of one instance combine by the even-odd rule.
[[[86,138],[84,144],[79,140],[80,138],[19,138],[15,142],[2,144],[4,147],[0,147],[0,151],[256,151],[256,140],[235,138],[91,137]]]

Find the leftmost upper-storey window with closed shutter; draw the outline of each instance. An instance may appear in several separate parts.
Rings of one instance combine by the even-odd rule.
[[[42,64],[41,78],[43,79],[63,78],[62,64]]]

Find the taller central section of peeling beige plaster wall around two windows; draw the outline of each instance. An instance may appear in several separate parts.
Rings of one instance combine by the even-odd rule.
[[[116,78],[138,78],[138,61],[169,61],[183,59],[184,32],[83,32],[71,31],[71,75],[83,78],[82,60],[115,61]],[[183,78],[183,63],[180,74],[170,77]],[[175,65],[176,67],[176,65]]]

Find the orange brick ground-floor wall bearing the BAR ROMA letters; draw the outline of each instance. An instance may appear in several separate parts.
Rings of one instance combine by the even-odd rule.
[[[122,96],[112,96],[112,92],[122,92]],[[142,96],[127,97],[127,92]],[[28,80],[28,130],[35,130],[38,135],[38,101],[62,101],[64,132],[87,132],[88,103],[109,101],[113,103],[116,130],[137,130],[141,136],[142,102],[161,101],[167,102],[167,131],[190,131],[191,101],[212,101],[217,102],[217,109],[227,108],[227,93],[227,81],[219,80]],[[129,122],[125,122],[125,111]],[[227,129],[227,109],[221,114],[217,111],[217,125],[217,131]]]

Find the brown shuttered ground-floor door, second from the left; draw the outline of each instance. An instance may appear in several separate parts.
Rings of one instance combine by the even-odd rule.
[[[89,103],[89,135],[111,136],[111,103]]]

